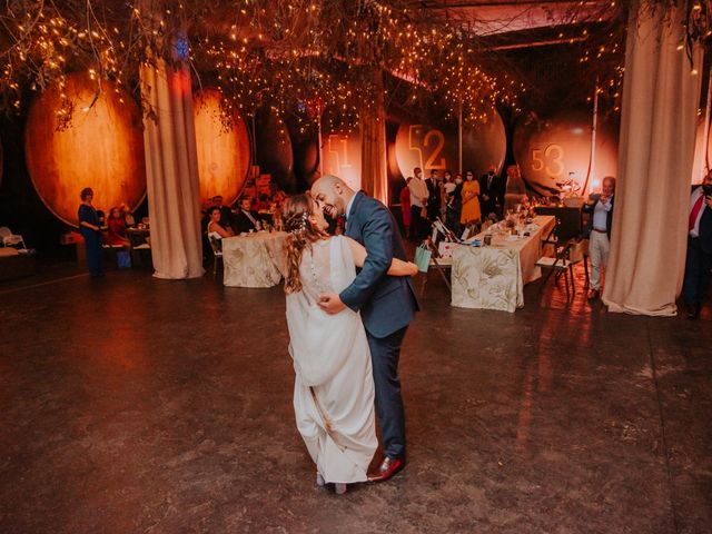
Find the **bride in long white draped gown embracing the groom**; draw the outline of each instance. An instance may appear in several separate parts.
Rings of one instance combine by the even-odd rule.
[[[370,353],[359,314],[346,308],[328,315],[317,299],[354,280],[366,249],[348,237],[329,237],[324,214],[308,195],[291,197],[283,218],[289,233],[285,293],[297,428],[316,464],[317,484],[334,483],[343,494],[346,484],[366,482],[378,446]],[[414,264],[398,259],[388,270],[416,273]]]

